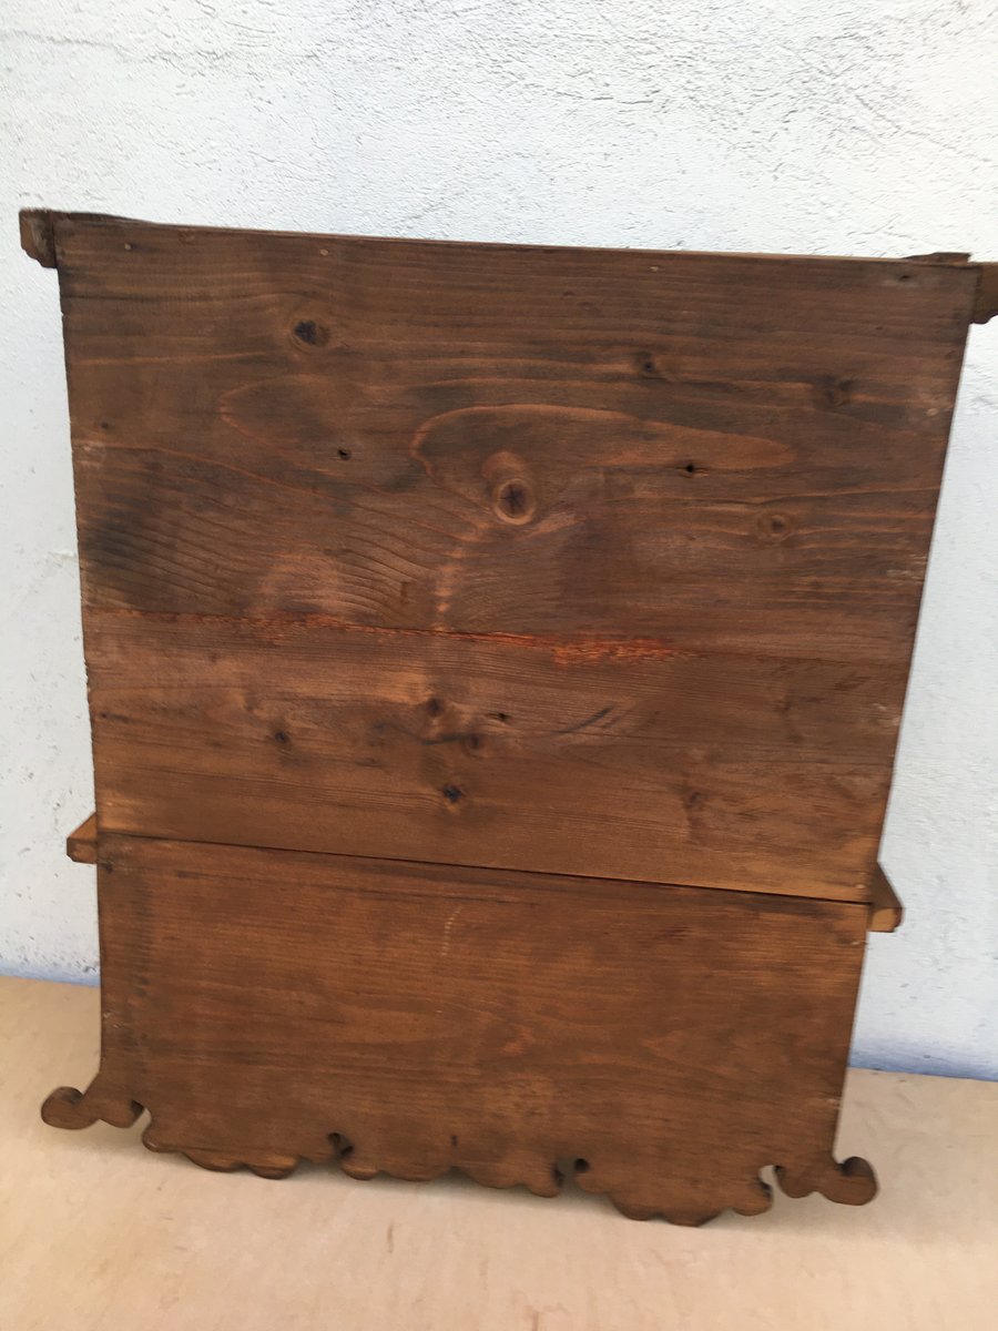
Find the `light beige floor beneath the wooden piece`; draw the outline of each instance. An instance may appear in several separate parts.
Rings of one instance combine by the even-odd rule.
[[[454,1178],[209,1174],[45,1127],[96,1069],[97,992],[0,981],[3,1331],[995,1331],[998,1085],[853,1073],[840,1154],[882,1193],[701,1230]]]

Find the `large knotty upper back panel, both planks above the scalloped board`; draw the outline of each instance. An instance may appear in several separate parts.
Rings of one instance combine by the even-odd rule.
[[[979,265],[45,236],[104,825],[869,900]]]

